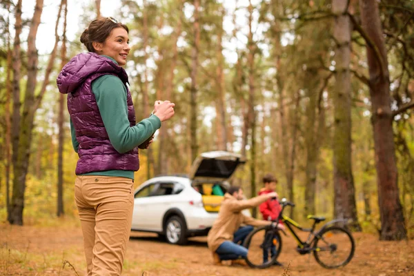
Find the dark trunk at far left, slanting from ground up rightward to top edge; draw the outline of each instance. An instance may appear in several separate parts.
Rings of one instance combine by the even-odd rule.
[[[32,141],[32,130],[34,120],[34,88],[36,87],[37,75],[37,49],[35,45],[37,29],[40,24],[43,0],[37,0],[34,14],[30,23],[28,34],[28,80],[26,83],[23,116],[20,121],[19,139],[17,145],[17,157],[13,164],[13,195],[10,204],[10,224],[23,225],[24,191],[26,189],[26,175],[30,158],[30,142]]]

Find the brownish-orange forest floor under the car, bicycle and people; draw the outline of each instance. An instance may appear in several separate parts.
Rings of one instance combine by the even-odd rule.
[[[84,275],[81,228],[75,221],[52,225],[0,224],[0,275]],[[312,255],[298,255],[293,237],[282,237],[279,262],[264,270],[248,266],[213,266],[206,237],[186,246],[159,241],[156,235],[132,232],[122,275],[414,275],[414,241],[380,242],[371,234],[355,233],[356,250],[344,268],[328,270]],[[288,267],[288,268],[287,268]],[[289,270],[289,271],[288,271]]]

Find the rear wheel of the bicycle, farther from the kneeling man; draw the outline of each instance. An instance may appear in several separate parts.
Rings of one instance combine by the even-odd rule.
[[[324,268],[345,266],[355,252],[355,242],[348,230],[331,226],[319,233],[313,244],[316,262]]]

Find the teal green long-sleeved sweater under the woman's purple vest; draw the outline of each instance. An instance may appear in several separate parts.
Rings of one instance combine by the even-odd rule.
[[[103,56],[108,57],[108,56]],[[108,59],[115,61],[108,57]],[[128,106],[126,103],[126,86],[119,77],[103,75],[92,81],[92,92],[97,99],[99,113],[105,126],[110,143],[120,153],[128,152],[144,143],[158,128],[161,121],[155,115],[140,121],[135,126],[130,126],[128,121]],[[70,119],[70,132],[72,145],[77,152],[79,142],[76,139],[75,128]],[[102,172],[88,172],[83,175],[103,175],[110,177],[127,177],[134,179],[132,170],[106,170]]]

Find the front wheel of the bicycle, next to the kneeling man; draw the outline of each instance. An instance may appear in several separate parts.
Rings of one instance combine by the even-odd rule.
[[[244,241],[248,248],[246,262],[253,268],[267,268],[282,250],[282,238],[277,230],[264,226],[253,230]]]

